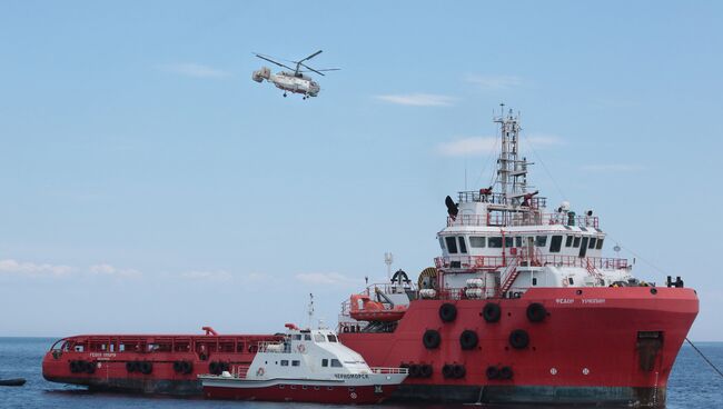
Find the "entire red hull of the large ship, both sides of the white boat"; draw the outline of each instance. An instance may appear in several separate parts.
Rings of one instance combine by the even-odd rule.
[[[652,290],[648,287],[537,288],[528,290],[519,299],[417,300],[410,303],[394,332],[343,332],[339,337],[346,346],[361,353],[370,366],[423,363],[432,367],[428,378],[408,377],[393,398],[663,406],[671,368],[697,315],[699,300],[692,289],[655,288],[655,295]],[[443,302],[456,305],[458,313],[453,322],[440,320],[438,310]],[[487,302],[501,305],[498,322],[486,322],[481,317]],[[549,312],[542,322],[527,319],[526,308],[532,302],[544,305]],[[442,342],[438,348],[427,349],[423,345],[422,337],[427,329],[439,331]],[[511,347],[509,333],[515,329],[529,335],[527,348]],[[459,337],[465,330],[478,336],[475,349],[460,348]],[[660,350],[648,353],[647,358],[652,357],[650,370],[641,368],[644,359],[641,356],[647,352],[638,346],[640,331],[660,331],[663,337]],[[92,339],[118,337],[92,336]],[[142,337],[160,339],[160,336]],[[179,337],[184,338],[175,336]],[[229,337],[237,337],[237,343],[249,338]],[[229,337],[197,338],[216,340]],[[51,381],[98,389],[200,395],[201,387],[196,376],[208,373],[211,361],[250,363],[255,351],[215,351],[205,361],[197,352],[123,352],[111,358],[93,358],[91,353],[63,352],[60,358],[55,358],[48,352],[43,359],[43,376]],[[69,370],[71,360],[92,360],[100,362],[101,367],[92,375],[72,373]],[[126,369],[129,360],[152,360],[152,372],[129,373]],[[176,372],[172,366],[176,360],[192,361],[192,372]],[[464,366],[464,377],[445,378],[442,373],[444,365]],[[488,379],[486,369],[489,366],[509,367],[512,379]]]

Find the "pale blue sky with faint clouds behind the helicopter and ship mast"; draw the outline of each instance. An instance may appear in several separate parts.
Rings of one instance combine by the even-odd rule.
[[[689,2],[0,6],[1,336],[268,332],[432,265],[444,197],[487,186],[493,109],[532,181],[592,208],[638,277],[723,340],[722,7]],[[324,53],[318,98],[252,52]]]

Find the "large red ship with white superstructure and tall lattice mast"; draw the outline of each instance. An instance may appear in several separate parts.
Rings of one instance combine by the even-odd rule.
[[[592,210],[577,215],[562,202],[547,211],[546,199],[527,183],[518,118],[503,111],[495,122],[495,184],[447,197],[435,267],[416,282],[398,271],[390,282],[351,296],[339,339],[369,366],[408,368],[393,396],[399,400],[663,407],[699,311],[695,291],[680,277],[664,287],[641,281],[627,260],[603,257],[606,235]],[[118,351],[119,339],[68,338],[70,350],[51,349],[43,373],[95,388],[200,393],[190,373],[175,371],[176,362],[192,360],[192,373],[201,373],[211,370],[210,356],[217,367],[250,361],[249,342],[257,340],[231,337],[244,346],[240,352],[221,355],[219,345],[207,360],[196,343],[191,351],[171,343],[165,353],[125,350],[101,363],[108,351],[98,348],[116,342]],[[139,339],[150,345],[158,338]],[[79,343],[82,352],[72,350]],[[96,372],[78,371],[88,366],[79,361],[93,362]],[[153,362],[150,373],[130,370],[146,361]]]

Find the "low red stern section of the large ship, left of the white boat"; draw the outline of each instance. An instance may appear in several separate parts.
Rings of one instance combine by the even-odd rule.
[[[256,356],[259,341],[279,339],[281,337],[273,335],[76,336],[61,340],[72,342],[73,347],[69,350],[57,349],[46,353],[42,375],[49,381],[93,389],[200,395],[198,375],[210,373],[215,369],[220,373],[219,365],[248,366]],[[149,350],[151,345],[158,348]],[[82,351],[76,351],[76,347],[82,348]],[[186,368],[175,365],[179,361],[187,362]],[[148,362],[150,368],[147,363],[145,366],[150,371],[145,373],[138,368],[140,365],[129,370],[129,362]]]

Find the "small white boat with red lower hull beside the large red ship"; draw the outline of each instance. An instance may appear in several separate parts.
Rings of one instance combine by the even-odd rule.
[[[250,366],[200,375],[209,399],[378,403],[408,375],[406,368],[369,368],[328,329],[287,323],[281,341],[259,342]]]

